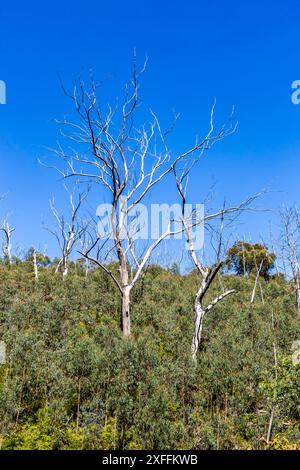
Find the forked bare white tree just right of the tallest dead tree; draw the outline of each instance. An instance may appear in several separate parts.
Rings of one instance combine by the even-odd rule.
[[[202,339],[202,330],[203,330],[203,320],[208,312],[210,312],[219,302],[224,300],[231,294],[234,294],[236,291],[235,289],[227,289],[224,290],[222,293],[217,295],[213,300],[211,300],[208,304],[205,304],[205,298],[207,296],[208,291],[210,290],[213,281],[216,279],[217,275],[220,273],[222,267],[224,266],[225,260],[222,260],[222,236],[223,236],[223,229],[224,229],[224,222],[226,221],[227,224],[231,224],[237,216],[245,211],[251,209],[252,202],[259,197],[260,194],[256,194],[247,198],[242,203],[238,204],[234,207],[226,207],[225,204],[223,208],[214,213],[208,213],[205,215],[199,215],[196,212],[187,212],[187,203],[186,203],[186,191],[187,191],[187,184],[188,178],[190,174],[191,167],[194,166],[196,162],[187,165],[185,168],[181,170],[174,169],[175,181],[178,190],[178,194],[181,199],[181,222],[184,228],[184,233],[187,241],[187,246],[189,250],[189,254],[191,256],[192,262],[196,268],[198,275],[200,276],[199,288],[195,294],[194,298],[194,333],[192,339],[192,357],[195,360],[196,355],[199,350],[199,346]],[[205,264],[201,261],[200,254],[198,250],[195,249],[193,237],[191,234],[191,230],[195,225],[203,224],[207,226],[206,228],[210,228],[211,223],[214,221],[221,222],[221,228],[219,230],[219,240],[218,246],[216,249],[216,262],[212,266],[205,266]],[[205,228],[205,227],[204,227]],[[215,232],[215,229],[214,229]]]

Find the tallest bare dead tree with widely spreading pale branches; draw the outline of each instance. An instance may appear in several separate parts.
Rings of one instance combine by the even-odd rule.
[[[93,80],[87,88],[82,80],[72,94],[65,93],[75,105],[77,120],[60,121],[62,134],[72,142],[71,151],[61,146],[55,154],[64,161],[63,170],[56,168],[65,178],[76,178],[94,183],[101,197],[111,203],[112,243],[109,252],[118,261],[115,274],[103,261],[99,246],[102,237],[96,237],[90,248],[82,253],[89,261],[99,266],[111,277],[121,296],[122,330],[125,338],[131,334],[130,301],[131,292],[140,279],[156,247],[172,234],[170,227],[147,247],[135,243],[129,233],[126,220],[137,211],[149,197],[151,190],[163,183],[172,173],[175,165],[196,154],[202,154],[214,143],[234,131],[231,122],[220,129],[214,129],[214,112],[211,112],[209,130],[206,135],[184,152],[172,155],[166,145],[170,130],[163,131],[157,116],[150,111],[150,122],[138,124],[137,110],[140,108],[140,71],[135,64],[129,85],[125,86],[121,104],[103,108],[98,98],[98,87]],[[174,123],[178,116],[175,116]],[[75,147],[75,148],[74,148]],[[106,246],[109,243],[106,244]],[[98,248],[97,248],[98,247]],[[94,255],[95,250],[97,256]],[[132,265],[134,275],[131,277]]]

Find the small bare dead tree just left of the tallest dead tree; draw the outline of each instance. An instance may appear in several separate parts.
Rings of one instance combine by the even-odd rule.
[[[79,211],[88,195],[88,191],[75,194],[75,191],[69,191],[67,186],[65,186],[65,190],[69,197],[69,217],[66,219],[64,215],[59,213],[55,206],[55,201],[52,199],[50,200],[50,208],[56,221],[56,227],[55,229],[45,227],[46,230],[55,237],[58,243],[61,256],[56,266],[55,273],[58,273],[59,270],[62,269],[63,279],[68,275],[69,259],[74,247],[86,230],[87,223],[83,223],[79,220]]]

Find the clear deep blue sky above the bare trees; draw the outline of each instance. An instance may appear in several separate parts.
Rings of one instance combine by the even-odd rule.
[[[12,212],[20,247],[49,242],[52,250],[41,220],[60,182],[36,160],[55,142],[53,119],[70,110],[57,74],[72,85],[92,67],[118,89],[134,47],[149,57],[145,106],[166,123],[173,108],[181,113],[174,149],[206,130],[215,97],[220,119],[235,105],[239,128],[198,167],[194,200],[216,183],[216,198],[238,201],[269,186],[275,192],[262,205],[299,201],[300,105],[291,103],[300,79],[298,0],[11,0],[1,2],[0,25],[0,193],[9,193],[0,214]],[[268,218],[250,217],[242,230],[266,233]]]

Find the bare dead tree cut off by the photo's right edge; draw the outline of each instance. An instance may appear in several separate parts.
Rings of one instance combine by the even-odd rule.
[[[300,215],[296,207],[282,207],[281,218],[281,243],[282,257],[287,276],[292,279],[296,296],[296,307],[300,317],[300,269],[299,269],[299,234]]]

